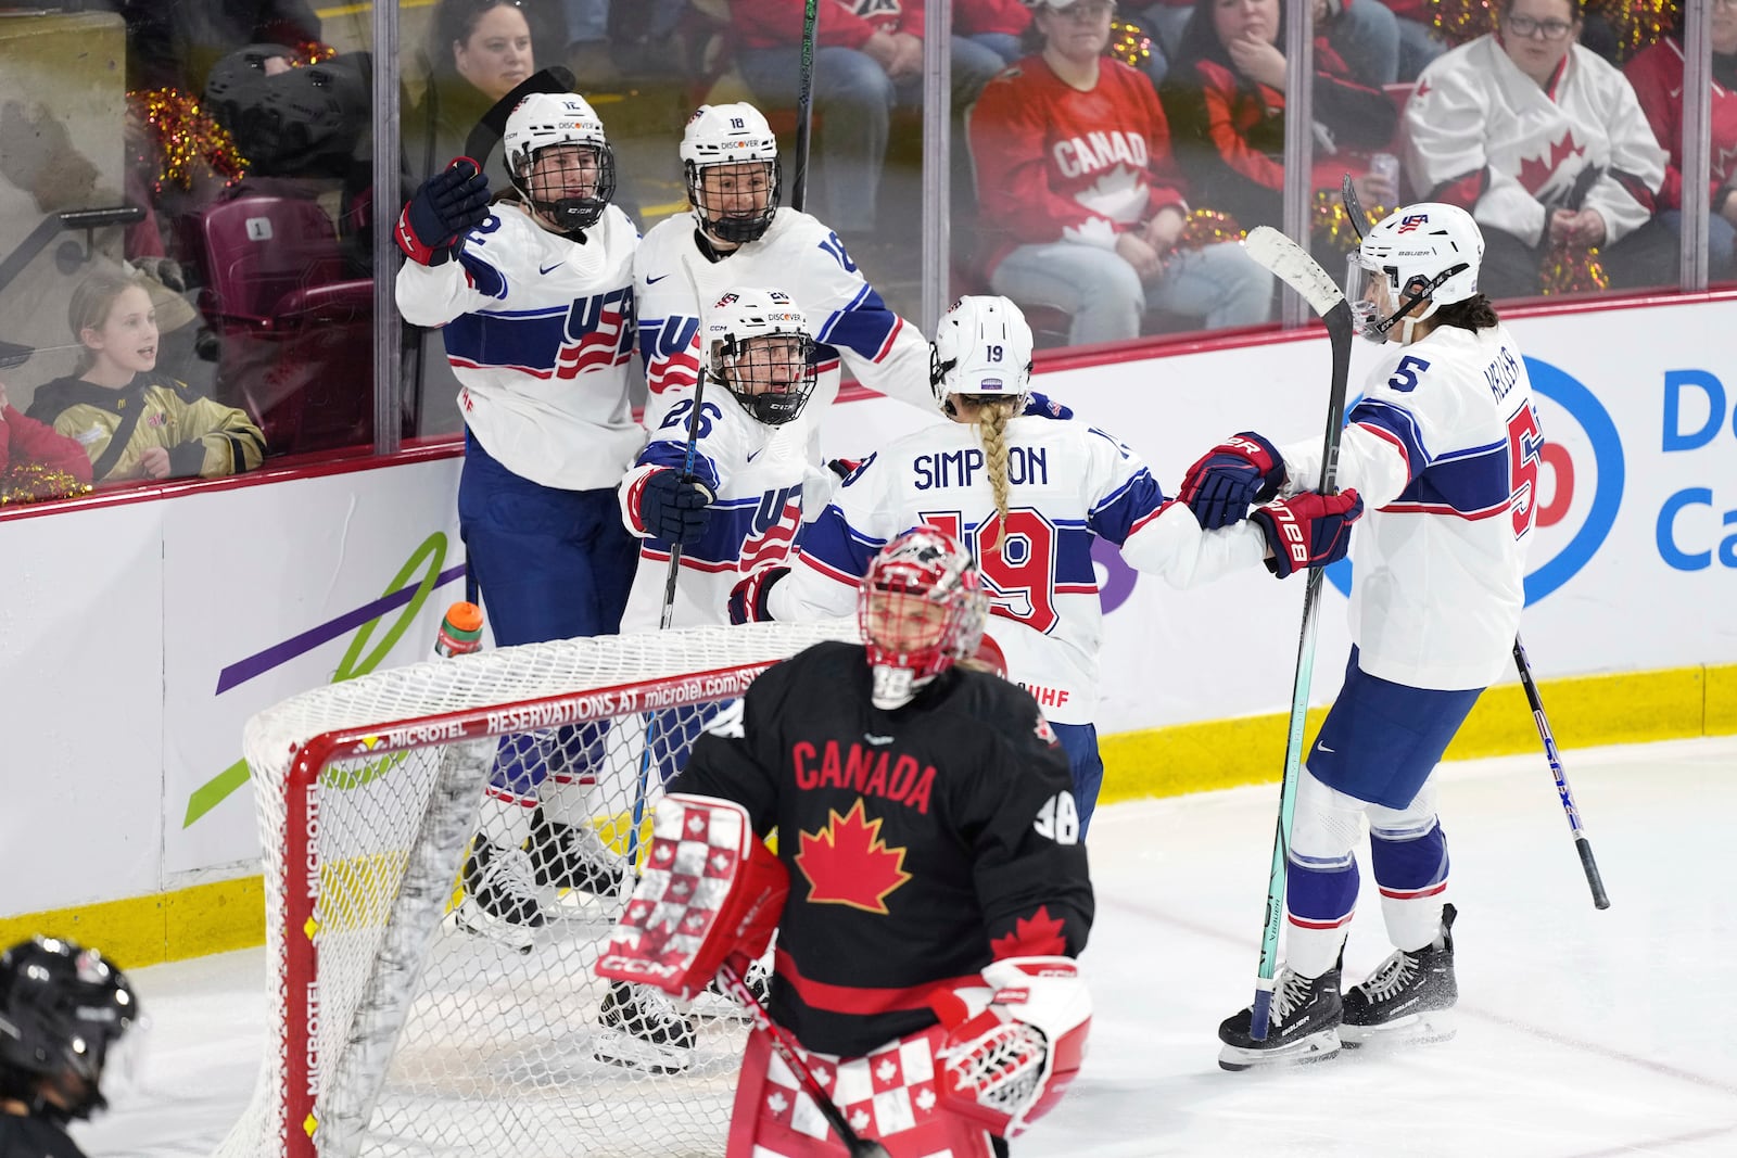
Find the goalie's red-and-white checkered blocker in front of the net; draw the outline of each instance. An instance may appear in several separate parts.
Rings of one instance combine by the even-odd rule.
[[[754,835],[735,800],[670,793],[651,819],[644,873],[598,976],[653,984],[693,1000],[740,955],[738,972],[771,943],[790,875]]]

